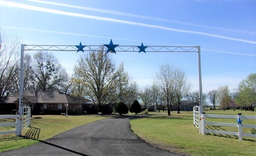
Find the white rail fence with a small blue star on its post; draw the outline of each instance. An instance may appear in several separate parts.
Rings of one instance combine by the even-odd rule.
[[[237,124],[231,123],[220,123],[220,122],[206,122],[206,118],[233,118],[238,119]],[[238,136],[239,140],[242,140],[243,136],[254,137],[256,138],[256,134],[249,134],[243,133],[242,128],[256,128],[256,125],[248,125],[248,124],[241,124],[239,122],[243,119],[252,119],[256,120],[256,116],[243,116],[242,114],[238,115],[215,115],[215,114],[202,114],[202,134],[208,133],[218,133],[218,134],[227,134],[227,135],[235,135]],[[256,122],[255,122],[256,123]],[[214,125],[214,126],[231,126],[231,127],[238,127],[238,132],[229,132],[229,131],[222,131],[222,130],[208,130],[205,128],[205,125]]]

